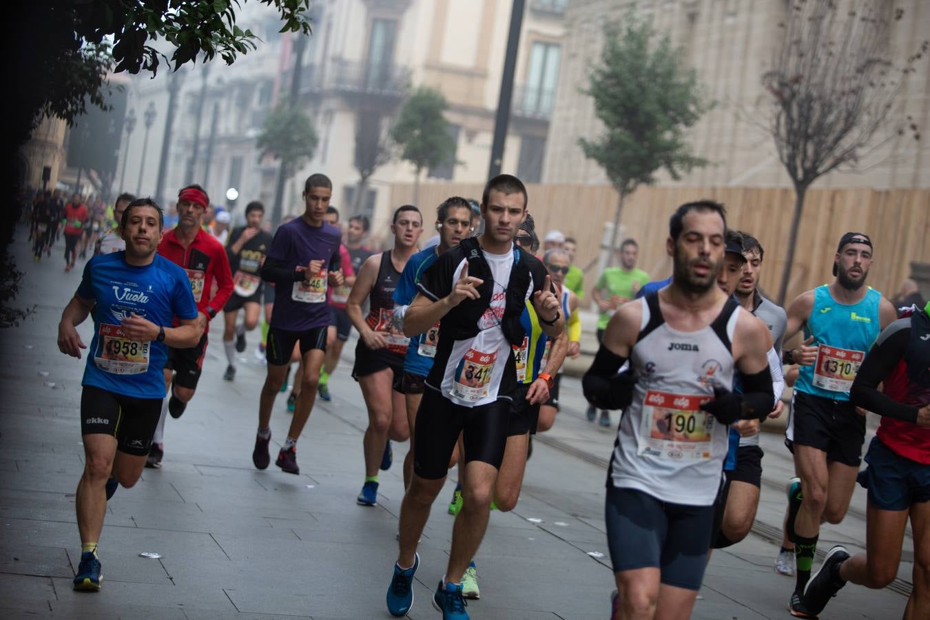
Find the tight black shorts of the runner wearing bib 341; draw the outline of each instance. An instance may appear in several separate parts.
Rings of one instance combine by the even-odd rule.
[[[463,407],[427,386],[414,435],[430,441],[413,443],[413,470],[426,480],[445,478],[459,433],[465,442],[466,463],[481,461],[499,469],[507,447],[510,410],[511,402],[506,399]]]

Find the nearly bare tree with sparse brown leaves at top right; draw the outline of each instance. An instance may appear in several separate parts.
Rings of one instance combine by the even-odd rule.
[[[920,139],[920,129],[894,108],[914,65],[930,51],[923,41],[908,59],[888,57],[892,28],[904,10],[879,0],[798,0],[778,24],[781,39],[762,76],[768,130],[794,184],[794,215],[778,288],[785,304],[804,195],[831,170],[853,169],[896,136]]]

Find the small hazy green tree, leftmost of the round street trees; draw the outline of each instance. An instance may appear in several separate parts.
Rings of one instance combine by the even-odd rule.
[[[259,161],[266,155],[281,161],[281,176],[286,181],[312,158],[318,142],[310,118],[282,102],[265,119],[255,146]]]

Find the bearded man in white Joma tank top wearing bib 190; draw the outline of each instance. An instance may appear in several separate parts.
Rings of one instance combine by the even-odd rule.
[[[687,618],[704,575],[727,425],[772,409],[764,323],[716,286],[723,205],[683,204],[670,221],[674,275],[621,307],[584,377],[596,407],[624,409],[607,477],[613,617]],[[618,375],[630,360],[631,371]],[[731,391],[740,372],[743,393]],[[643,602],[658,601],[643,614]]]

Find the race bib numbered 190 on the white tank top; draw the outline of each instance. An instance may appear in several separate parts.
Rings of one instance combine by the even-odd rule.
[[[706,395],[647,390],[637,454],[675,460],[711,458],[714,420],[699,408],[701,403],[711,400]]]

